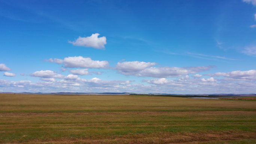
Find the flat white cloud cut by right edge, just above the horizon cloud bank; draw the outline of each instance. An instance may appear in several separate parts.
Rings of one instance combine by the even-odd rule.
[[[228,73],[215,73],[214,76],[224,76],[232,79],[256,80],[256,70],[231,71]]]

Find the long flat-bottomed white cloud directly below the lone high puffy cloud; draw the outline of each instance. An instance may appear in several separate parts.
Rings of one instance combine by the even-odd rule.
[[[70,56],[64,59],[50,58],[47,61],[64,64],[64,67],[67,68],[107,68],[109,66],[108,61],[94,61],[82,56]]]

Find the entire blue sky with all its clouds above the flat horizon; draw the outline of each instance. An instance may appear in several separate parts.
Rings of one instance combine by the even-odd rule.
[[[256,0],[0,0],[0,92],[256,93]]]

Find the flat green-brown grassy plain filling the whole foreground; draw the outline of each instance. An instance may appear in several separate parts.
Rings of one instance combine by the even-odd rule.
[[[256,144],[256,101],[0,94],[1,144]]]

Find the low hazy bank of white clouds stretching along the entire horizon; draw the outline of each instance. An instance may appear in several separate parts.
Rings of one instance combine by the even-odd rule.
[[[132,84],[130,80],[101,80],[99,78],[76,80],[60,80],[56,82],[35,82],[28,80],[7,81],[0,79],[1,92],[137,92],[137,93],[168,93],[168,94],[220,94],[255,93],[255,80],[218,79],[203,82],[201,79],[189,79],[182,76],[177,79],[143,80],[143,83]],[[207,81],[205,79],[204,81]]]

